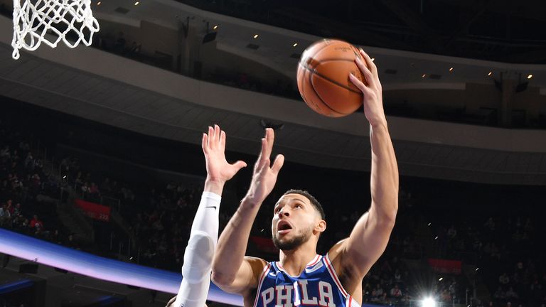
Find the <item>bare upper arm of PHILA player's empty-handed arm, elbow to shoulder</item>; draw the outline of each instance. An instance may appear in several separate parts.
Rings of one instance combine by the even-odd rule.
[[[245,257],[241,266],[235,274],[235,279],[229,285],[218,285],[220,289],[229,293],[245,294],[248,291],[256,289],[259,282],[259,276],[262,275],[264,267],[267,265],[264,259],[256,257]]]

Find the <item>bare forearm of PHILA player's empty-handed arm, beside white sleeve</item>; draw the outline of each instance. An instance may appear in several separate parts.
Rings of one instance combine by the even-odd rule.
[[[229,285],[235,280],[239,271],[250,237],[250,230],[256,218],[261,203],[244,198],[225,226],[213,260],[213,281]]]

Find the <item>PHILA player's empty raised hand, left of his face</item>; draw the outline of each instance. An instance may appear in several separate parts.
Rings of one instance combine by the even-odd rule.
[[[273,141],[275,134],[273,129],[265,129],[265,137],[262,139],[262,150],[259,153],[258,160],[254,166],[254,174],[252,175],[252,182],[247,192],[247,200],[252,203],[261,204],[267,195],[273,190],[275,183],[277,182],[277,176],[284,164],[284,156],[282,154],[277,155],[273,166],[271,165],[271,151],[273,149]]]

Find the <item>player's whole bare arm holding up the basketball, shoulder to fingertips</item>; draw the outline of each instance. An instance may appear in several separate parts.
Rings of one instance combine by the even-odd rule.
[[[378,70],[363,50],[360,53],[363,60],[357,58],[356,63],[366,82],[352,75],[350,80],[363,92],[364,113],[370,122],[372,203],[348,239],[336,244],[330,252],[341,269],[350,271],[358,282],[385,251],[398,210],[398,166],[383,111]]]

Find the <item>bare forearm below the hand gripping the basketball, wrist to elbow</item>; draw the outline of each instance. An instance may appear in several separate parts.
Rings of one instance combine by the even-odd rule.
[[[379,219],[394,222],[398,210],[398,166],[387,122],[370,125],[372,208]]]

